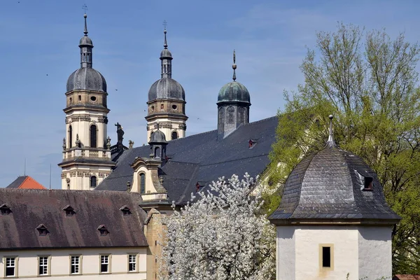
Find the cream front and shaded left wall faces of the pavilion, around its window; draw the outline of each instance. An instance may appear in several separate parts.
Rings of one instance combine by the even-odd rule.
[[[291,232],[294,232],[294,235],[290,239]],[[359,233],[356,226],[277,227],[277,242],[279,243],[277,253],[279,276],[277,279],[346,279],[346,274],[349,273],[350,280],[357,280],[360,278],[358,239]],[[321,244],[333,246],[333,263],[330,269],[323,268],[320,263]],[[293,278],[293,266],[295,267],[295,278]]]

